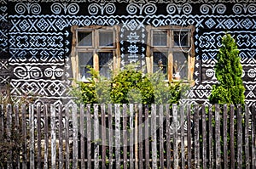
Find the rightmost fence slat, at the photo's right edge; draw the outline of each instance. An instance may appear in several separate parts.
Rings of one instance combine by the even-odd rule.
[[[256,168],[256,106],[252,110],[252,168]]]

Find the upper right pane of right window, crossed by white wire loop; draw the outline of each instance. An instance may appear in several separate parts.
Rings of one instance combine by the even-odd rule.
[[[174,46],[188,47],[189,46],[189,33],[188,31],[173,31]]]

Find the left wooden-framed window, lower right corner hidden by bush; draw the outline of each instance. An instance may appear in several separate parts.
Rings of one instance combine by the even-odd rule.
[[[75,79],[90,79],[88,66],[110,77],[111,70],[119,69],[119,26],[74,25],[72,65]]]

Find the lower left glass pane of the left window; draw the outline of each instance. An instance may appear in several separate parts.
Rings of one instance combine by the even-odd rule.
[[[81,80],[85,80],[91,77],[90,73],[88,73],[88,65],[90,65],[90,67],[93,67],[93,54],[79,52],[79,72]]]

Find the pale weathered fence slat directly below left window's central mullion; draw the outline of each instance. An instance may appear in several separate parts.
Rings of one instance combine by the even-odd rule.
[[[93,104],[93,143],[94,143],[94,168],[100,168],[99,156],[100,156],[100,128],[99,128],[99,109],[98,104]]]

